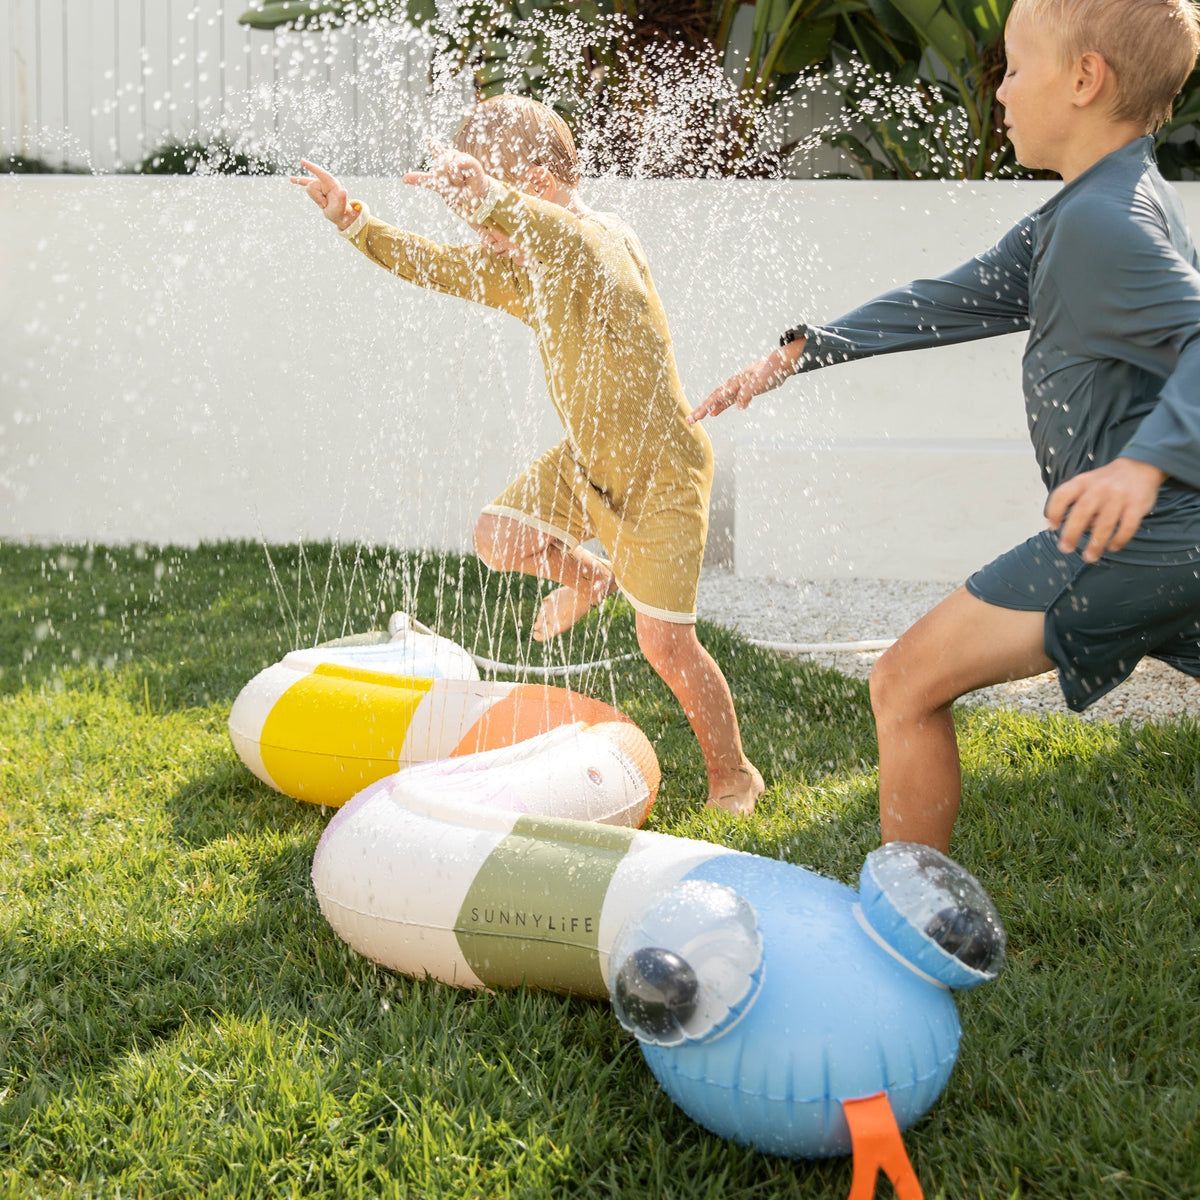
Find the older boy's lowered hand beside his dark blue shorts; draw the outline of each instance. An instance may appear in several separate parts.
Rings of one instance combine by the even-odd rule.
[[[1058,548],[1069,554],[1091,533],[1084,562],[1120,550],[1154,506],[1166,473],[1136,458],[1114,458],[1106,467],[1068,479],[1046,500],[1046,523],[1058,530]]]

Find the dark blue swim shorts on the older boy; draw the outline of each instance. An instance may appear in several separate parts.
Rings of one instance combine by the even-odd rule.
[[[976,571],[966,587],[986,604],[1046,614],[1046,656],[1074,712],[1147,656],[1200,678],[1200,563],[1085,563],[1056,542],[1043,530]]]

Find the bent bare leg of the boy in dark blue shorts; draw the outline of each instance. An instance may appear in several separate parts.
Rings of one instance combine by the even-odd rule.
[[[950,706],[979,688],[1050,671],[1044,625],[1045,613],[1000,608],[960,587],[876,662],[871,708],[883,841],[949,852],[962,793]]]

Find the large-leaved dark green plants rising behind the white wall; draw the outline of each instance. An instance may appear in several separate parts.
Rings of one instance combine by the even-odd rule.
[[[749,48],[733,38],[745,7]],[[473,0],[446,19],[433,0],[270,0],[240,19],[258,29],[403,19],[473,67],[481,98],[536,96],[601,139],[605,108],[649,113],[662,104],[646,77],[664,46],[737,74],[733,95],[709,101],[720,113],[689,114],[702,127],[690,142],[680,132],[678,161],[649,168],[661,174],[778,173],[794,148],[778,138],[763,144],[763,130],[779,127],[763,113],[790,101],[798,79],[810,86],[804,77],[817,71],[844,104],[844,119],[823,139],[860,175],[991,179],[1028,174],[1013,157],[996,101],[1010,7],[1012,0]],[[574,58],[552,44],[566,23],[577,31]],[[1200,143],[1180,136],[1198,125],[1200,74],[1158,138],[1168,178],[1200,175]],[[631,169],[634,134],[628,122],[610,131],[606,167]],[[702,161],[689,163],[688,155]]]

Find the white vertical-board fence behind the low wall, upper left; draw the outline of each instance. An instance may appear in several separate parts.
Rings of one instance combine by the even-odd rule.
[[[362,25],[324,34],[238,24],[245,0],[4,0],[0,154],[95,172],[130,167],[166,143],[224,136],[288,144],[295,85],[320,106],[337,166],[370,170],[372,140],[416,152],[430,47]],[[396,110],[400,109],[397,113]]]

